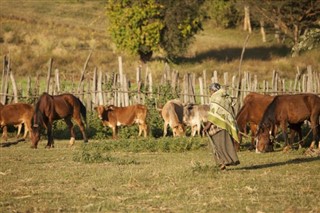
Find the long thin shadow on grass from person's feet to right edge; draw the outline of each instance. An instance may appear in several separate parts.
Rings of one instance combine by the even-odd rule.
[[[275,162],[275,163],[267,163],[267,164],[261,164],[261,165],[252,165],[252,166],[246,166],[241,168],[232,168],[232,170],[256,170],[256,169],[265,169],[265,168],[271,168],[276,166],[283,166],[288,164],[301,164],[301,163],[309,163],[313,161],[320,161],[320,157],[309,157],[309,158],[295,158],[288,161],[283,162]],[[231,170],[231,169],[230,169]]]

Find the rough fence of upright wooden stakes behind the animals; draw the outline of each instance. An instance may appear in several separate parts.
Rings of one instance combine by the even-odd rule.
[[[128,106],[135,103],[145,103],[146,98],[159,99],[167,94],[162,93],[161,85],[169,85],[171,90],[184,103],[205,104],[209,102],[208,85],[219,82],[225,86],[229,93],[237,100],[238,108],[242,105],[243,98],[249,92],[259,92],[265,94],[295,94],[295,93],[315,93],[320,94],[320,72],[312,70],[307,66],[306,71],[301,71],[297,67],[295,79],[285,79],[279,76],[277,71],[271,71],[272,80],[261,80],[250,72],[241,75],[241,82],[236,75],[229,75],[228,72],[218,73],[218,71],[208,72],[204,70],[201,76],[194,73],[180,75],[176,70],[172,70],[168,64],[164,64],[163,74],[159,82],[155,82],[151,70],[146,68],[144,76],[141,67],[136,68],[135,82],[129,81],[127,74],[123,70],[122,58],[119,57],[119,72],[108,73],[94,68],[93,75],[86,75],[87,64],[91,53],[81,71],[81,77],[76,85],[74,79],[68,83],[67,89],[62,89],[59,70],[52,71],[53,59],[48,62],[48,73],[45,89],[40,87],[39,75],[32,78],[27,77],[27,85],[20,87],[14,78],[14,70],[11,70],[10,59],[4,56],[3,72],[1,77],[0,101],[3,104],[9,102],[21,102],[21,100],[31,99],[34,102],[42,92],[49,94],[61,94],[70,92],[78,96],[90,111],[96,105],[114,104],[116,106]],[[10,84],[11,81],[11,84]],[[33,86],[31,86],[33,84]]]

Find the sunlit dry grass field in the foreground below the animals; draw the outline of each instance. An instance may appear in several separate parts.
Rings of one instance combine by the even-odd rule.
[[[103,143],[110,141],[88,145]],[[0,148],[0,212],[320,211],[320,158],[302,151],[241,151],[240,165],[220,171],[208,146],[114,150],[107,154],[117,160],[85,163],[75,160],[82,141],[72,148],[66,140],[56,140],[53,149],[44,145],[42,140],[37,150],[25,142]]]

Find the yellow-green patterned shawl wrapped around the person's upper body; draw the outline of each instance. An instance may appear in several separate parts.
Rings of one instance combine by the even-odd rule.
[[[210,97],[208,120],[221,129],[225,129],[239,143],[238,126],[232,109],[232,99],[226,90],[219,89]]]

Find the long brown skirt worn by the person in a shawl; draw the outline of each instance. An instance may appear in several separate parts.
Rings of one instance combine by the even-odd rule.
[[[240,164],[233,140],[226,130],[220,130],[211,136],[211,139],[215,146],[213,151],[214,160],[219,166]]]

